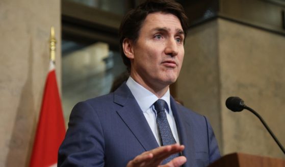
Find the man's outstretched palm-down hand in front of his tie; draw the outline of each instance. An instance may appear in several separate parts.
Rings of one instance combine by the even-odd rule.
[[[172,154],[182,152],[184,150],[184,146],[180,146],[178,144],[158,147],[156,149],[144,152],[133,160],[129,161],[127,167],[131,166],[159,166],[159,164],[167,157]],[[184,162],[184,158],[174,158],[173,161],[169,162],[169,165],[177,166],[176,164],[181,165]]]

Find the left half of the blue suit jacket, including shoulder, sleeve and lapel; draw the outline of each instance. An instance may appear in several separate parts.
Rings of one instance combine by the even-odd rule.
[[[128,87],[77,103],[59,149],[59,166],[126,166],[159,147]]]

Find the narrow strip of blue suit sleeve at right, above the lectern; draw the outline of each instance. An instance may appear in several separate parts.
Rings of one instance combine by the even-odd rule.
[[[221,157],[221,155],[220,155],[220,151],[219,151],[219,147],[218,147],[218,142],[216,140],[212,126],[211,126],[208,118],[206,118],[205,116],[204,116],[204,118],[205,118],[207,128],[208,128],[209,161],[211,164],[214,161],[216,161],[217,159],[219,159]]]

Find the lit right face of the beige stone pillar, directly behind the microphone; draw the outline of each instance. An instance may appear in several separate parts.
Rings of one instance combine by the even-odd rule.
[[[223,152],[283,158],[257,117],[246,110],[230,112],[224,101],[241,97],[285,144],[285,37],[223,19],[218,23]]]

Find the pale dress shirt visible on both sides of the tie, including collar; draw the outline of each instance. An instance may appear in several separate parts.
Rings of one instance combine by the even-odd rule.
[[[137,83],[132,77],[129,77],[128,80],[126,81],[126,85],[128,88],[131,90],[133,93],[136,101],[138,102],[145,118],[146,121],[154,135],[156,137],[158,144],[161,146],[160,139],[159,139],[159,132],[157,128],[157,112],[154,109],[154,102],[159,100],[159,98],[144,88],[142,85]],[[166,107],[166,116],[167,116],[167,121],[169,123],[170,129],[172,131],[173,137],[175,141],[179,144],[179,138],[178,138],[178,133],[177,133],[177,128],[175,124],[175,120],[172,114],[172,110],[170,107],[170,92],[169,89],[167,92],[164,94],[164,96],[161,98],[162,100],[166,101],[167,107]]]

